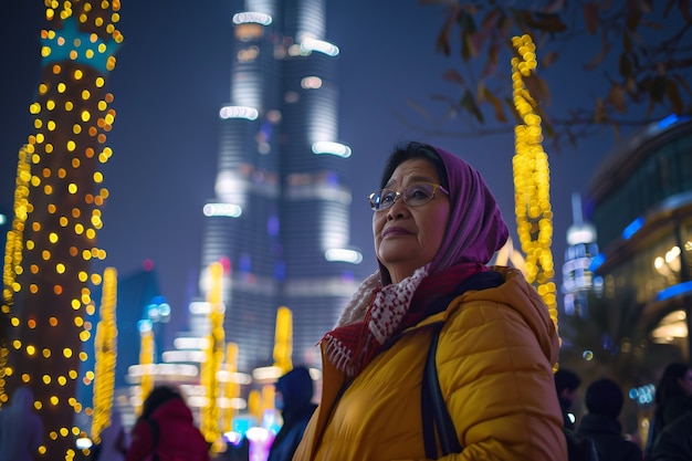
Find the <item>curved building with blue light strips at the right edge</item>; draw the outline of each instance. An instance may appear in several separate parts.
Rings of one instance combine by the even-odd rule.
[[[598,230],[591,269],[604,298],[641,305],[651,338],[688,354],[692,119],[670,116],[623,142],[594,176],[585,208]]]

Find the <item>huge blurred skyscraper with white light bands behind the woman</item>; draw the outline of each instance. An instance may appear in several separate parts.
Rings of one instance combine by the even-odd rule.
[[[294,362],[315,364],[315,343],[353,294],[360,261],[348,245],[339,50],[325,41],[324,0],[248,0],[232,22],[201,266],[224,265],[226,338],[238,344],[239,370],[272,364],[280,306],[293,312]],[[209,285],[203,273],[200,297]]]

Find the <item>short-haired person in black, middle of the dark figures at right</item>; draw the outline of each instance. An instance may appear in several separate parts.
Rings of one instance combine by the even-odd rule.
[[[588,413],[581,418],[577,434],[594,440],[599,460],[642,460],[639,446],[622,438],[618,417],[623,402],[622,390],[610,379],[594,381],[586,389]]]

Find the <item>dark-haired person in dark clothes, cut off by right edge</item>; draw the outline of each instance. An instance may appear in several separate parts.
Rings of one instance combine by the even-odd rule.
[[[646,459],[650,458],[656,439],[663,428],[691,409],[690,396],[692,396],[692,368],[682,363],[668,365],[656,387],[656,409],[647,437]]]

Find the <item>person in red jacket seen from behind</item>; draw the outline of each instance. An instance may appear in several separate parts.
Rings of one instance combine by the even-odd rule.
[[[161,461],[209,461],[209,446],[195,426],[192,411],[169,386],[155,387],[144,401],[126,461],[144,461],[153,454]]]

